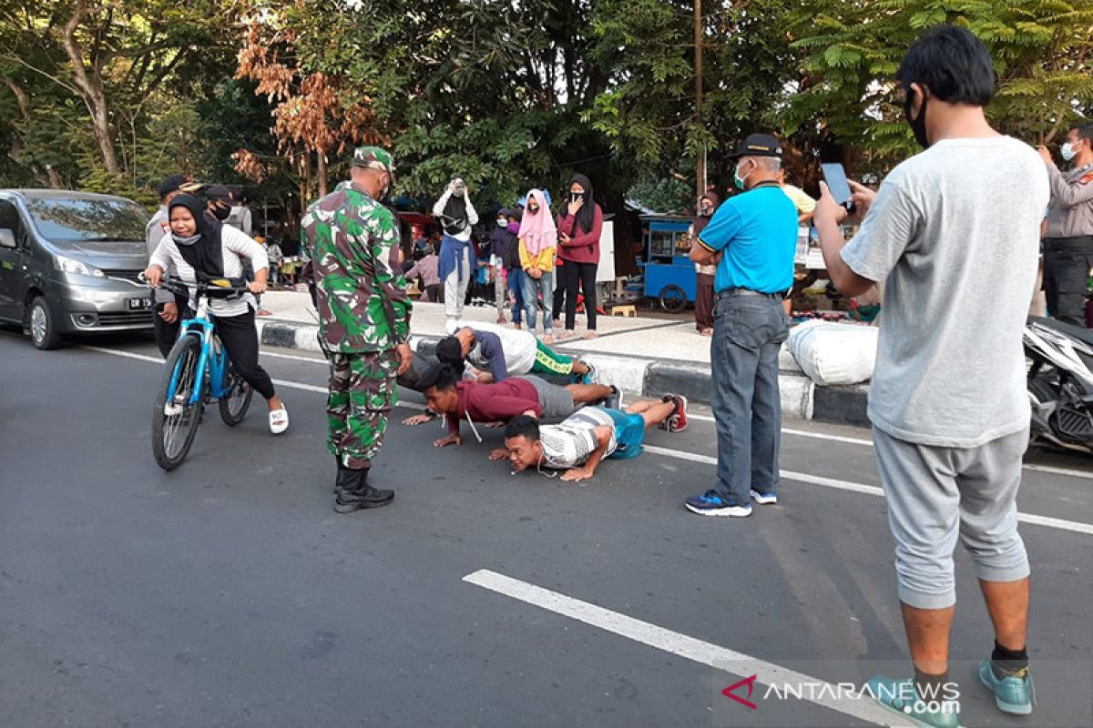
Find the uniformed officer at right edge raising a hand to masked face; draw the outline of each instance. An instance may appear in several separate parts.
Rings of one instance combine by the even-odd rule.
[[[1062,158],[1073,164],[1061,172],[1045,146],[1036,147],[1047,164],[1051,203],[1044,237],[1044,293],[1047,312],[1059,321],[1085,325],[1085,287],[1093,268],[1093,123],[1067,134]]]

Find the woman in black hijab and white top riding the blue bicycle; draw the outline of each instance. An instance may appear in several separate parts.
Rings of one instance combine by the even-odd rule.
[[[188,286],[213,278],[243,278],[244,259],[250,261],[255,281],[247,284],[250,294],[237,298],[211,298],[210,308],[215,317],[216,335],[224,345],[227,358],[236,373],[269,405],[270,432],[280,434],[289,429],[289,413],[273,390],[273,382],[258,363],[258,332],[255,329],[255,298],[262,294],[269,276],[266,251],[245,232],[223,225],[205,212],[205,205],[191,194],[179,194],[171,202],[171,235],[164,236],[152,253],[144,276],[158,286],[164,271],[171,266]],[[190,296],[190,308],[195,298]],[[167,323],[191,315],[178,311],[172,303],[163,314]]]

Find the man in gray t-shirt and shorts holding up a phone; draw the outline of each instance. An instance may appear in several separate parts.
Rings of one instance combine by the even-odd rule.
[[[1030,420],[1022,330],[1047,174],[1032,147],[988,124],[994,70],[968,31],[928,32],[898,80],[927,150],[896,167],[875,195],[855,188],[868,212],[848,243],[838,229],[845,211],[826,189],[813,218],[842,294],[886,284],[869,417],[915,680],[874,680],[878,688],[909,683],[920,695],[948,681],[959,538],[995,624],[980,681],[999,708],[1026,714],[1029,560],[1015,499]],[[880,702],[897,711],[907,704]],[[922,725],[956,725],[957,715],[928,707],[913,707]]]

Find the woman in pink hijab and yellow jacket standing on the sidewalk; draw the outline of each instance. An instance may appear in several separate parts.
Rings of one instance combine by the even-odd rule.
[[[550,307],[554,293],[554,253],[557,249],[557,228],[546,206],[542,190],[528,192],[520,218],[520,265],[524,267],[524,309],[527,313],[528,331],[536,334],[539,315],[539,296],[543,299],[543,342],[554,341]]]

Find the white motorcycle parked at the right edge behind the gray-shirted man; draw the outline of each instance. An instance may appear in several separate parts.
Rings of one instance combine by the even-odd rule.
[[[1024,330],[1030,444],[1093,453],[1093,331],[1031,318]]]

